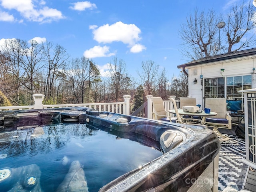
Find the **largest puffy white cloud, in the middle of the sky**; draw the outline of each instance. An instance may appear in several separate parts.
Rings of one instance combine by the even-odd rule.
[[[116,22],[112,25],[106,24],[94,28],[92,33],[94,34],[93,39],[98,43],[123,42],[132,46],[141,39],[140,32],[140,29],[134,24]]]

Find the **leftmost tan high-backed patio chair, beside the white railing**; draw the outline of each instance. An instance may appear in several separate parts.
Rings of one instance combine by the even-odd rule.
[[[170,113],[165,111],[164,102],[161,97],[152,97],[153,119],[161,121],[170,121]]]

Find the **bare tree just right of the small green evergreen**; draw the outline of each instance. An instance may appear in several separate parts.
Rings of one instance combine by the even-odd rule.
[[[143,85],[146,95],[153,95],[158,86],[158,69],[154,61],[142,61],[142,71],[137,71],[139,83]]]

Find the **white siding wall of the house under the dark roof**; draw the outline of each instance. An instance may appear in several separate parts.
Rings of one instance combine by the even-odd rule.
[[[252,75],[254,61],[251,57],[240,58],[222,62],[207,63],[203,65],[196,65],[188,67],[188,94],[189,96],[196,97],[197,104],[201,105],[200,109],[203,109],[203,97],[204,97],[204,79],[214,77],[230,77],[240,75]],[[256,63],[255,63],[256,67]],[[221,74],[220,69],[225,69]],[[203,75],[202,85],[200,75]],[[254,74],[255,76],[255,74]],[[197,79],[197,83],[194,84],[194,79]],[[252,88],[256,88],[255,78],[252,77]],[[226,80],[225,80],[226,82]],[[226,87],[226,86],[225,86]],[[226,91],[226,88],[225,88]]]

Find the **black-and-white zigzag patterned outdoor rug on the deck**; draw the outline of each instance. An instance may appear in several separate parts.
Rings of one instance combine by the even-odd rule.
[[[219,153],[219,183],[218,190],[222,191],[229,182],[235,182],[242,190],[248,174],[248,165],[240,162],[245,158],[245,140],[234,135],[227,135],[230,140],[222,141]]]

